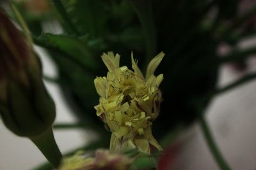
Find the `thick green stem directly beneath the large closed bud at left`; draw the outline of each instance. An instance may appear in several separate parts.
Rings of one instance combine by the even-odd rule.
[[[54,139],[52,128],[48,129],[40,136],[30,139],[53,167],[57,168],[60,165],[62,155]]]

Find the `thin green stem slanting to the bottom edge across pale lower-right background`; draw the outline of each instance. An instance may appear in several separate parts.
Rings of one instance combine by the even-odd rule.
[[[230,167],[225,162],[225,159],[221,155],[220,150],[214,142],[214,138],[212,137],[211,131],[203,115],[200,116],[200,125],[204,133],[204,138],[207,141],[207,145],[209,146],[209,149],[211,150],[212,156],[214,157],[216,163],[221,170],[230,170]]]

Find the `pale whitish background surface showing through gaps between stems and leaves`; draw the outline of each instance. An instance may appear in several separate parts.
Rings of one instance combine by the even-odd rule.
[[[250,41],[256,43],[256,39]],[[36,51],[44,66],[44,73],[56,76],[56,66],[47,57],[47,53],[36,47]],[[237,71],[232,65],[220,69],[220,81],[223,86],[237,80],[243,74],[256,70],[256,58],[246,60],[248,67]],[[57,106],[56,122],[76,122],[72,110],[67,107],[60,87],[55,83],[45,82]],[[212,102],[207,108],[207,120],[221,152],[234,170],[250,170],[256,168],[256,81],[252,81],[237,89],[227,92]],[[63,152],[74,150],[95,138],[95,134],[82,129],[54,131],[56,141]],[[20,170],[31,169],[45,162],[42,153],[26,138],[20,138],[10,133],[0,124],[0,169]],[[198,170],[218,169],[204,141],[198,124],[180,135],[172,169]],[[171,161],[170,161],[171,162]]]

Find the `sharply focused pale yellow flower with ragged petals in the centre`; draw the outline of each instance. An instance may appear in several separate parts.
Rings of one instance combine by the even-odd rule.
[[[94,80],[100,95],[99,105],[95,106],[97,116],[108,124],[112,132],[110,151],[118,152],[138,148],[150,153],[150,145],[162,150],[152,136],[152,120],[159,115],[163,100],[159,85],[163,74],[154,76],[154,71],[164,57],[159,53],[150,61],[144,77],[136,61],[132,58],[132,68],[119,66],[120,55],[104,53],[102,60],[108,67],[105,77]]]

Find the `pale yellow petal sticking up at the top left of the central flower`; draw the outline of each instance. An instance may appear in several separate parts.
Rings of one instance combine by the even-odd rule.
[[[114,73],[115,69],[119,67],[120,55],[116,54],[116,56],[114,56],[113,52],[108,52],[108,54],[103,53],[101,58],[109,72]]]

